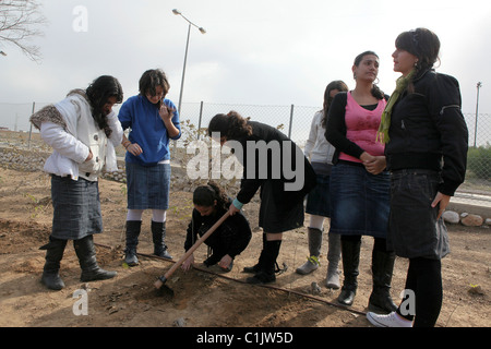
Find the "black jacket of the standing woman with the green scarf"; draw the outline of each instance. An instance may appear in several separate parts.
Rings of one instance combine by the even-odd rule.
[[[462,115],[455,77],[424,71],[394,105],[390,142],[385,145],[390,170],[419,168],[441,171],[439,191],[453,195],[464,182],[468,131]]]

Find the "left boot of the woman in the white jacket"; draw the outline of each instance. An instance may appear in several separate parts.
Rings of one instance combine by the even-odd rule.
[[[49,243],[39,248],[39,250],[46,250],[46,263],[43,268],[41,282],[50,290],[59,291],[64,288],[64,282],[59,272],[65,246],[67,240],[49,237]]]

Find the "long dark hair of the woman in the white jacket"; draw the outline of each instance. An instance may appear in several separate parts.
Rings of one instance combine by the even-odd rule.
[[[109,137],[111,129],[107,124],[107,118],[103,113],[103,108],[110,97],[116,97],[117,104],[122,103],[123,91],[121,84],[113,76],[103,75],[94,80],[85,93],[93,109],[92,116],[94,120]]]

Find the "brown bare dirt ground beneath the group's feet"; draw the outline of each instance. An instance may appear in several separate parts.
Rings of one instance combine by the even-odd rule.
[[[244,266],[255,264],[262,244],[258,228],[258,203],[244,206],[253,228],[248,249],[224,274],[206,268],[206,246],[195,252],[196,267],[180,268],[167,286],[175,297],[157,297],[154,281],[172,262],[146,254],[153,252],[151,216],[144,214],[139,252],[141,265],[122,263],[125,220],[125,184],[100,180],[100,202],[105,231],[95,236],[99,265],[117,270],[110,280],[83,284],[80,266],[68,244],[61,266],[67,287],[47,290],[40,284],[52,218],[50,180],[43,172],[0,168],[0,326],[1,327],[371,327],[364,316],[371,291],[370,256],[372,239],[363,238],[359,288],[355,304],[336,304],[338,290],[324,286],[327,237],[324,236],[321,267],[309,276],[295,273],[308,255],[307,228],[284,234],[278,257],[288,269],[271,286],[244,284]],[[171,192],[167,215],[167,243],[179,260],[184,253],[185,228],[192,209],[191,193]],[[306,224],[308,222],[306,216]],[[491,231],[487,228],[450,226],[452,253],[443,260],[444,299],[439,327],[490,327],[491,325]],[[325,224],[328,230],[328,222]],[[407,261],[396,260],[392,296],[398,300],[404,289]],[[311,284],[321,287],[313,294]],[[81,313],[76,294],[84,290],[87,315]],[[397,301],[396,301],[397,302]]]

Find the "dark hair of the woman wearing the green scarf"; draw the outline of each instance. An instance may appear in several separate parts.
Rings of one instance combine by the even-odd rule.
[[[440,39],[430,29],[416,28],[400,33],[395,40],[395,46],[397,49],[408,51],[418,58],[414,76],[432,69],[434,63],[439,61]]]

